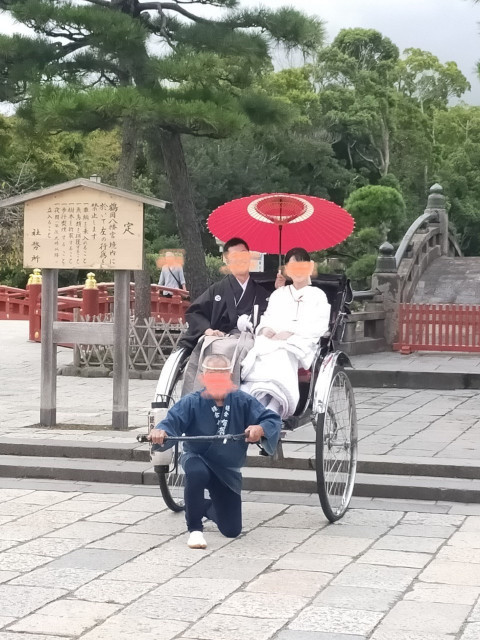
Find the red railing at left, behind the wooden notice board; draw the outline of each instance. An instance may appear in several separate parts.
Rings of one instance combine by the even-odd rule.
[[[26,289],[0,286],[0,320],[29,320],[29,339],[40,341],[41,330],[41,284],[27,285]],[[171,296],[163,295],[163,292]],[[185,312],[190,303],[188,292],[151,285],[151,316],[158,322],[185,321]],[[80,309],[84,317],[98,316],[113,311],[114,284],[101,282],[97,288],[83,285],[62,287],[58,290],[58,319],[73,321],[74,309]],[[135,308],[135,287],[130,286],[130,310]]]

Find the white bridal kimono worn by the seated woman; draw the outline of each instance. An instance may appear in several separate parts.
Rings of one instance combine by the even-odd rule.
[[[288,285],[274,291],[257,327],[255,345],[242,363],[241,389],[264,405],[275,400],[282,418],[293,415],[300,397],[298,369],[311,366],[329,321],[330,305],[321,289]],[[258,335],[264,327],[293,335],[272,340]]]

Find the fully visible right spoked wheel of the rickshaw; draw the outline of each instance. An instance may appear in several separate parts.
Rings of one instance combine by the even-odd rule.
[[[330,522],[348,509],[357,467],[357,416],[351,382],[335,367],[324,411],[313,416],[316,425],[317,492]]]

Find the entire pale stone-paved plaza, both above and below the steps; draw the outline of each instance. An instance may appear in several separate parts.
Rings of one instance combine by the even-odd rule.
[[[0,453],[12,438],[131,444],[155,383],[130,381],[132,430],[115,432],[98,429],[112,381],[60,376],[70,428],[32,426],[40,345],[26,338],[26,323],[0,323]],[[59,349],[59,365],[71,359]],[[361,457],[475,464],[479,391],[355,396]],[[478,640],[480,505],[351,506],[330,525],[316,495],[244,492],[240,538],[207,523],[208,548],[190,550],[155,486],[0,478],[0,640]]]

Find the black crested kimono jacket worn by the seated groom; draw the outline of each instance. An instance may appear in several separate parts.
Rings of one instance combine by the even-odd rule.
[[[253,318],[255,305],[258,305],[258,322],[267,308],[269,295],[252,278],[248,281],[245,293],[232,274],[215,282],[190,305],[186,314],[188,330],[178,346],[192,351],[208,328],[230,333],[237,328],[237,320],[241,315],[247,314]]]

